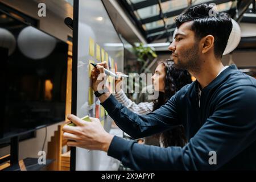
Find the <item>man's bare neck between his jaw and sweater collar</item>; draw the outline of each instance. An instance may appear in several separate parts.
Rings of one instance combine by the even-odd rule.
[[[220,60],[205,61],[201,66],[201,70],[192,74],[199,82],[201,89],[203,89],[217,77],[218,72],[220,72],[222,68],[224,68],[224,65]]]

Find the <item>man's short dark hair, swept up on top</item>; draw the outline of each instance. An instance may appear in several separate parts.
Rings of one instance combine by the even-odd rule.
[[[191,29],[195,32],[195,37],[201,39],[207,35],[214,36],[214,55],[222,57],[232,31],[232,20],[228,14],[217,11],[210,16],[209,12],[212,10],[213,6],[205,3],[191,7],[177,16],[175,24],[179,28],[181,24],[193,21]]]

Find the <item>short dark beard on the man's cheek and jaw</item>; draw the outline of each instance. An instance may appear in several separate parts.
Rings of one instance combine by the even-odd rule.
[[[175,68],[177,69],[187,69],[189,72],[198,73],[200,72],[201,64],[199,59],[199,48],[195,44],[192,48],[180,53],[182,60],[177,56],[177,62]]]

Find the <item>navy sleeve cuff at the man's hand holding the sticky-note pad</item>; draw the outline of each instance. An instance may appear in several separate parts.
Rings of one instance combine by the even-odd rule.
[[[126,139],[114,136],[109,146],[108,155],[122,161],[122,158],[125,156],[126,152],[128,151],[128,148],[131,145],[131,142],[132,142],[131,140],[126,140]]]

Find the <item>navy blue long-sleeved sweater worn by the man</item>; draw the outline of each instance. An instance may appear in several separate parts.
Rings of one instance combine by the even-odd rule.
[[[201,92],[192,82],[166,105],[138,115],[110,96],[102,106],[133,138],[147,137],[183,125],[189,143],[160,148],[114,137],[108,155],[137,170],[256,169],[256,79],[226,68]],[[216,152],[217,164],[209,160]]]

